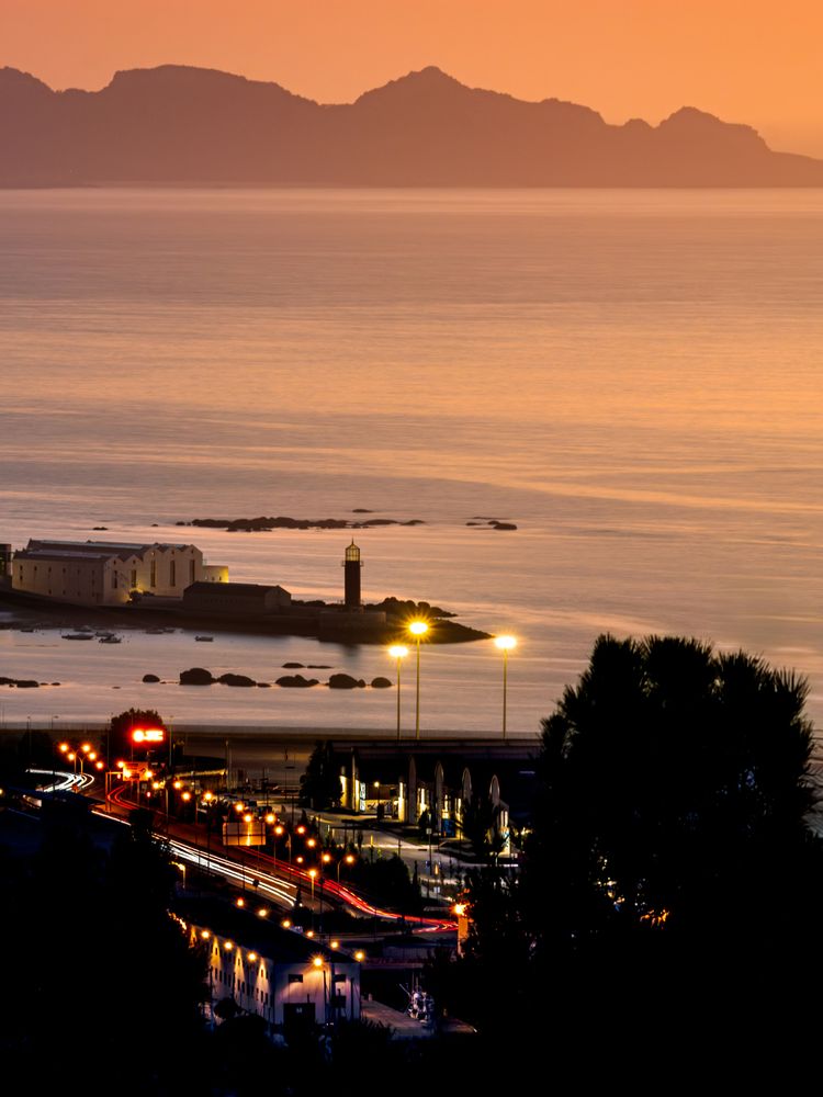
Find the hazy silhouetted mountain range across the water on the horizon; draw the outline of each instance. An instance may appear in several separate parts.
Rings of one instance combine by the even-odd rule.
[[[0,186],[821,186],[823,161],[684,106],[610,125],[435,67],[353,103],[164,65],[100,91],[0,69]]]

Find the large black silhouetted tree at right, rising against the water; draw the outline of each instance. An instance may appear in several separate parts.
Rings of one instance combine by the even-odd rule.
[[[823,857],[807,693],[743,652],[601,636],[543,721],[517,914],[523,980],[551,987],[566,1052],[576,1016],[616,1060],[640,1027],[646,1056],[710,1048],[730,1071],[809,1038],[797,989],[823,973]]]

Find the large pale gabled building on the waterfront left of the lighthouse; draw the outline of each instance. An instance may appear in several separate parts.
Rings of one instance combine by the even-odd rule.
[[[14,553],[11,585],[77,606],[122,606],[133,592],[182,598],[192,583],[227,583],[228,568],[203,563],[190,544],[30,540]]]

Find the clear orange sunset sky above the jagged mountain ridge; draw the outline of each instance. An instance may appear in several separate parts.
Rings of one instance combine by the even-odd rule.
[[[609,122],[684,104],[823,157],[820,0],[0,0],[0,65],[53,88],[176,61],[320,102],[425,65]]]

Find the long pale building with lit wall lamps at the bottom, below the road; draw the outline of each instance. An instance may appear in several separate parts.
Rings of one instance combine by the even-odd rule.
[[[261,1017],[271,1036],[294,1026],[360,1019],[360,962],[283,928],[277,911],[261,903],[236,911],[219,901],[192,900],[176,904],[176,912],[191,942],[206,951],[212,1015],[218,1002],[230,998],[244,1013]]]

